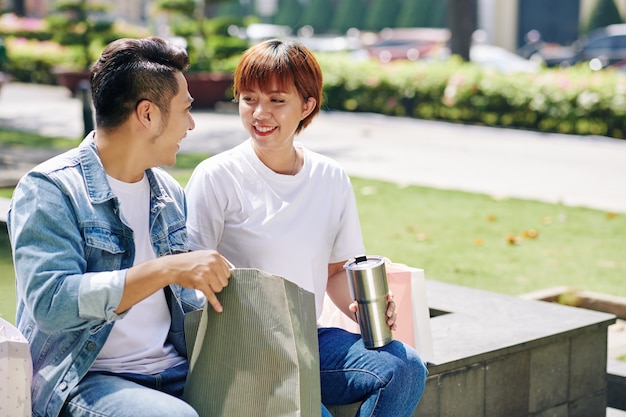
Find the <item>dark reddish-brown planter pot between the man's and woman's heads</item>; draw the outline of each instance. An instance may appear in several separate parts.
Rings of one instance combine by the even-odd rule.
[[[233,75],[227,73],[197,72],[185,74],[189,93],[195,108],[214,108],[219,101],[228,97],[233,84]]]

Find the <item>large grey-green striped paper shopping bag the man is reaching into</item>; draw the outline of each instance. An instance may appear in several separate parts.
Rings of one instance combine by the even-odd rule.
[[[241,268],[217,296],[222,313],[189,316],[201,315],[195,341],[185,326],[193,348],[183,398],[201,417],[320,417],[313,294]]]

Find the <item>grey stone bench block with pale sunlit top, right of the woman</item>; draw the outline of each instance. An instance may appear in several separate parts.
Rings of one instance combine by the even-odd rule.
[[[414,417],[605,415],[614,315],[431,280],[427,290],[435,363]]]

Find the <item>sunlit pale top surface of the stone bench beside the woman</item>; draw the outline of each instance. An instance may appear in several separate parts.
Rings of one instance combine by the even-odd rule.
[[[584,327],[608,326],[612,314],[426,280],[430,308],[450,312],[431,319],[435,366],[498,349],[541,345]],[[458,365],[458,363],[457,363]]]

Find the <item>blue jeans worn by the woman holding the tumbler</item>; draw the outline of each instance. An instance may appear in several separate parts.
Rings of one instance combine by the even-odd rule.
[[[362,401],[357,417],[410,417],[422,397],[428,370],[417,352],[393,341],[367,349],[360,335],[318,329],[322,403]],[[322,406],[322,415],[332,417]]]

